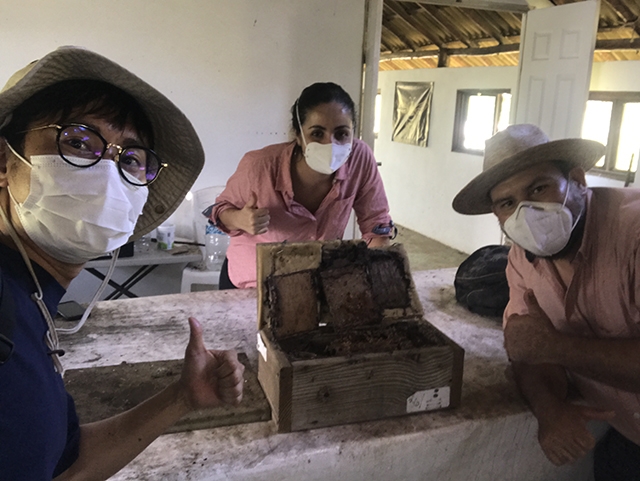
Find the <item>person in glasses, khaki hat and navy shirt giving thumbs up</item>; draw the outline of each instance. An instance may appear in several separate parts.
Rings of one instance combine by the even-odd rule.
[[[158,226],[203,163],[170,100],[88,50],[59,48],[0,92],[0,479],[106,479],[187,412],[240,402],[236,353],[208,351],[189,318],[178,382],[78,426],[52,321],[83,264]]]

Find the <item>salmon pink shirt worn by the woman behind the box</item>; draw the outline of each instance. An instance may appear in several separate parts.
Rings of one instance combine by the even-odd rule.
[[[373,229],[388,225],[389,204],[373,152],[354,139],[351,155],[334,174],[333,187],[312,214],[293,200],[291,157],[295,142],[275,144],[244,155],[216,199],[211,221],[229,233],[229,278],[237,287],[256,286],[256,244],[262,242],[341,239],[351,209],[364,239],[381,237]],[[229,208],[242,209],[251,193],[257,206],[269,209],[269,230],[261,235],[229,231],[219,220]]]

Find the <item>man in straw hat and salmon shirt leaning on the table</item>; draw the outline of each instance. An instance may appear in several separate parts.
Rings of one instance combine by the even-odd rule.
[[[594,472],[611,481],[640,479],[640,191],[587,187],[604,153],[509,126],[487,141],[482,173],[453,208],[493,212],[514,244],[504,342],[542,450],[572,463],[594,447],[587,422],[607,420]]]

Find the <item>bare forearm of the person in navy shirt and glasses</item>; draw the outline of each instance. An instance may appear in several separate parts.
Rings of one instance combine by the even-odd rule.
[[[125,413],[82,425],[80,455],[55,481],[107,479],[189,411],[174,383]]]

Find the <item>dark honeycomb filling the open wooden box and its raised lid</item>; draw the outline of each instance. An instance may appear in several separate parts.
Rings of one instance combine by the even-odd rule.
[[[294,358],[445,343],[419,321],[422,307],[401,245],[369,249],[363,241],[332,241],[260,250],[260,327],[271,329]]]

